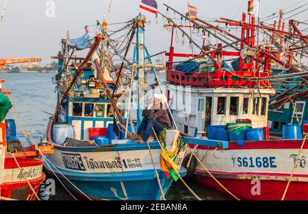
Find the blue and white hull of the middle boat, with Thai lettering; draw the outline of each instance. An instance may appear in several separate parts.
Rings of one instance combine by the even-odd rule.
[[[46,172],[57,176],[72,192],[92,200],[160,200],[157,182],[147,144],[101,146],[97,148],[67,148],[55,145],[54,155],[47,157]],[[132,150],[133,149],[133,150]],[[160,147],[151,145],[160,185],[164,194],[172,178],[159,167]],[[68,163],[78,157],[79,163]],[[77,162],[76,162],[77,163]],[[78,168],[78,169],[77,169]],[[185,175],[185,169],[179,171]]]

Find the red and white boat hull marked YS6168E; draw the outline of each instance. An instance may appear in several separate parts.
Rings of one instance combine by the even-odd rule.
[[[268,140],[244,144],[229,142],[229,148],[224,150],[198,146],[196,155],[224,187],[242,200],[281,200],[288,180],[291,183],[284,199],[308,200],[307,144],[296,162],[301,144],[302,140]],[[203,165],[198,163],[196,166],[197,182],[227,193]]]

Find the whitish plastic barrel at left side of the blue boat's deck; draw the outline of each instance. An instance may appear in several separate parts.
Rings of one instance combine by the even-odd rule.
[[[74,126],[72,124],[53,124],[53,142],[63,144],[66,137],[75,139]]]

